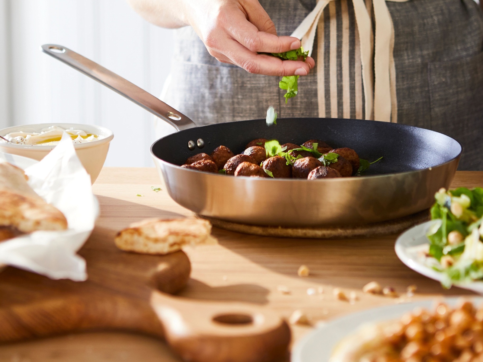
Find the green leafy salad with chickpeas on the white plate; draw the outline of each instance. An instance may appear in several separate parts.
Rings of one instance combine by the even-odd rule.
[[[431,207],[435,220],[426,233],[433,266],[443,273],[441,284],[483,279],[483,188],[440,189]]]

